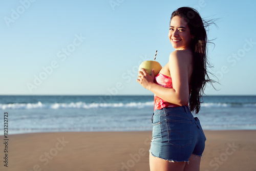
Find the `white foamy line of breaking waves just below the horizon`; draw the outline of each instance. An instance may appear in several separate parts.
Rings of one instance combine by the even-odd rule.
[[[94,108],[136,108],[142,109],[147,106],[154,106],[154,101],[148,102],[128,102],[128,103],[86,103],[86,102],[71,102],[71,103],[0,103],[0,109],[94,109]],[[233,108],[233,107],[256,107],[256,103],[201,103],[202,108]]]

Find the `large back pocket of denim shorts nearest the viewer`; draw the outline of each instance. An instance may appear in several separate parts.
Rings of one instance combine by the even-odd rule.
[[[190,121],[166,119],[168,142],[179,148],[192,143],[192,124]]]

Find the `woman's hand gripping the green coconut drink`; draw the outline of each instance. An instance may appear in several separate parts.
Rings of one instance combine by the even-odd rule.
[[[143,68],[142,71],[139,71],[139,76],[137,82],[141,84],[141,86],[147,90],[150,90],[151,86],[154,84],[155,80],[155,70],[152,70],[152,74],[148,74]]]

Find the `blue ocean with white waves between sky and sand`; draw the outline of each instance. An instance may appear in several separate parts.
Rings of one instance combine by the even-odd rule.
[[[151,131],[154,96],[0,96],[0,135]],[[4,113],[8,118],[4,119]],[[204,130],[256,130],[256,96],[205,96]]]

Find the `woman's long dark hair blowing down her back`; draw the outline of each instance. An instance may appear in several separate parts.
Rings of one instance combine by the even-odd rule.
[[[190,49],[193,52],[193,73],[190,82],[189,109],[196,113],[200,110],[201,98],[204,93],[206,83],[216,82],[209,78],[207,67],[211,67],[207,59],[207,44],[209,43],[206,33],[206,28],[210,24],[215,24],[213,21],[206,22],[203,20],[197,10],[190,7],[181,7],[172,13],[172,17],[183,17],[190,29],[190,34],[194,38],[191,39]]]

